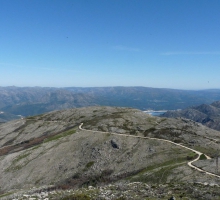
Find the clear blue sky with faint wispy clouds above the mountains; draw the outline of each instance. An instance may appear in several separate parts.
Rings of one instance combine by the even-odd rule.
[[[0,86],[220,88],[219,0],[0,0]]]

